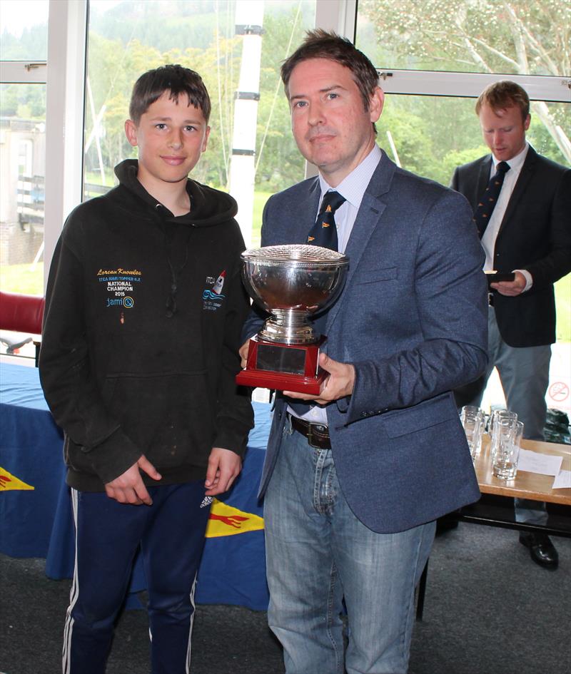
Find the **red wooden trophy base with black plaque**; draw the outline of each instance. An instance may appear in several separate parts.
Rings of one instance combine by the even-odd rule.
[[[315,344],[276,344],[253,337],[246,369],[236,374],[236,384],[318,395],[327,376],[318,368],[324,341],[321,337]]]

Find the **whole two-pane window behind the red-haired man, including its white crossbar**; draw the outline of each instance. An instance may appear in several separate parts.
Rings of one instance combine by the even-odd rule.
[[[460,96],[500,78],[530,93],[532,145],[571,165],[571,0],[363,0],[356,35],[388,91],[408,94],[388,96],[381,138],[405,168],[448,184],[484,154],[474,99]]]

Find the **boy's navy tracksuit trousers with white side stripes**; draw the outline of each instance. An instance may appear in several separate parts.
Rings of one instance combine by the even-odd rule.
[[[103,674],[113,623],[141,546],[153,674],[183,674],[191,655],[194,586],[210,513],[203,481],[148,489],[152,506],[71,490],[76,564],[64,632],[64,674]]]

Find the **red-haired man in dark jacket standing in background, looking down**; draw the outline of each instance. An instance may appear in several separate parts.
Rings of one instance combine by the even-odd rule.
[[[476,114],[492,155],[458,167],[451,186],[473,206],[486,254],[484,269],[513,272],[514,278],[490,283],[487,370],[455,395],[459,407],[479,405],[497,367],[507,407],[524,423],[524,437],[542,440],[550,345],[555,342],[553,283],[571,270],[571,170],[538,155],[525,140],[530,101],[515,82],[485,88]],[[486,185],[502,171],[505,177],[490,210]],[[522,522],[547,521],[545,504],[537,501],[516,499],[515,515]],[[557,551],[548,536],[522,533],[520,543],[540,566],[557,568]]]

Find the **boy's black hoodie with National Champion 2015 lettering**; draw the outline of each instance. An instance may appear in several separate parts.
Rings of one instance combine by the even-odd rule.
[[[249,302],[230,195],[188,180],[179,217],[138,182],[69,215],[51,263],[40,377],[66,435],[67,482],[103,491],[141,454],[156,482],[204,479],[213,446],[242,455],[253,412],[236,388]]]

